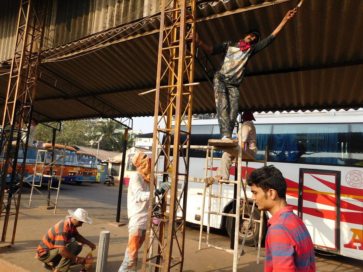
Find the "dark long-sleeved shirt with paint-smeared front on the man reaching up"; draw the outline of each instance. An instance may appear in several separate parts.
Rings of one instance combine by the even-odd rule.
[[[224,41],[223,44],[213,46],[212,55],[223,53],[223,60],[215,73],[220,81],[241,85],[249,59],[276,39],[270,34],[264,40],[251,45],[246,50],[240,50],[238,42]]]

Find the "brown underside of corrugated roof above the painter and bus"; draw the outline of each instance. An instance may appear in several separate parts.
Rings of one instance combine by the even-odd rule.
[[[264,1],[254,1],[262,7],[251,6],[255,9],[245,11],[247,2],[250,3],[230,0],[204,5],[201,11],[206,17],[200,17],[196,24],[203,42],[216,45],[224,40],[238,41],[251,28],[259,28],[262,36],[268,36],[296,3],[266,2],[269,6],[264,7],[267,5]],[[249,62],[240,87],[240,111],[362,107],[363,51],[359,41],[363,33],[362,14],[363,2],[305,1],[277,40]],[[138,96],[138,93],[155,87],[158,28],[158,17],[147,18],[46,50],[45,59],[70,46],[80,51],[107,37],[115,41],[91,53],[83,51],[84,55],[76,58],[70,55],[68,60],[44,62],[45,67],[79,89],[60,91],[39,82],[34,108],[56,120],[100,116],[97,110],[82,103],[85,98],[79,102],[81,95],[94,95],[117,109],[115,117],[154,115],[154,94]],[[221,56],[212,56],[211,60],[217,67]],[[195,81],[201,83],[194,87],[193,112],[215,112],[211,84],[205,81],[200,67],[196,66],[194,75]],[[2,90],[6,89],[5,82],[7,79],[0,77]],[[84,94],[80,95],[80,89]]]

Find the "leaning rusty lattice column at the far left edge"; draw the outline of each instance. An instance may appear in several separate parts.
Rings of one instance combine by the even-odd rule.
[[[46,3],[42,0],[21,0],[15,52],[11,62],[11,72],[1,131],[1,190],[0,219],[3,221],[2,244],[13,244],[23,175],[30,123],[32,119],[33,101],[39,74],[40,55],[44,36]],[[17,124],[16,124],[17,123]],[[19,149],[21,154],[19,154]],[[22,163],[17,165],[18,159]],[[11,173],[11,174],[10,174]],[[5,191],[6,190],[6,191]],[[7,201],[5,203],[5,195]],[[14,201],[15,205],[12,206]],[[7,229],[11,215],[14,215],[12,239],[6,241]]]

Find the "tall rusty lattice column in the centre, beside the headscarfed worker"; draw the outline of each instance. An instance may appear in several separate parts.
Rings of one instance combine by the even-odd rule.
[[[193,83],[194,26],[195,0],[162,0],[150,191],[154,192],[155,175],[171,186],[156,200],[151,193],[142,271],[147,266],[155,271],[177,266],[183,270],[192,96],[193,85],[198,84]],[[162,157],[163,169],[156,169]],[[153,224],[155,216],[158,225]]]

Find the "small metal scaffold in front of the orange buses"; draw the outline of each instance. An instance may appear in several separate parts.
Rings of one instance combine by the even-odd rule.
[[[46,164],[46,154],[47,152],[58,152],[58,153],[62,153],[62,155],[57,158],[57,160],[54,160],[52,162],[50,162],[49,164]],[[44,159],[42,161],[39,161],[38,158],[40,158],[41,153],[44,153]],[[63,166],[64,166],[64,162],[65,162],[65,153],[66,153],[66,147],[64,147],[63,151],[59,151],[56,149],[38,149],[38,153],[37,153],[37,160],[36,160],[36,164],[35,164],[35,171],[34,174],[30,175],[28,178],[33,177],[33,182],[30,183],[28,180],[24,180],[26,182],[28,182],[28,184],[30,184],[30,186],[32,186],[32,190],[30,192],[30,199],[29,199],[29,208],[30,205],[32,203],[32,198],[33,198],[33,190],[35,189],[38,193],[40,193],[44,198],[46,198],[49,203],[52,203],[54,205],[54,213],[56,213],[57,211],[57,205],[58,205],[58,197],[59,197],[59,191],[61,189],[61,181],[62,181],[62,174],[63,174]],[[52,171],[52,173],[50,173],[50,175],[46,175],[44,174],[44,171],[46,168],[49,168],[50,171],[50,166],[54,166],[56,165],[57,161],[60,161],[61,163],[60,168],[61,168],[61,172],[59,175],[54,175],[54,171]],[[38,168],[40,168],[39,170],[37,170]],[[40,183],[39,184],[35,184],[36,182],[36,177],[40,177]],[[48,196],[44,195],[40,190],[38,190],[36,187],[41,187],[42,186],[42,181],[43,181],[43,177],[48,177],[50,182],[50,187],[49,190],[51,191],[52,189],[57,190],[57,196],[56,196],[56,201],[53,202],[50,200],[50,198],[48,198]],[[27,178],[27,179],[28,179]],[[52,187],[52,183],[53,183],[53,178],[57,178],[58,180],[58,187]]]

